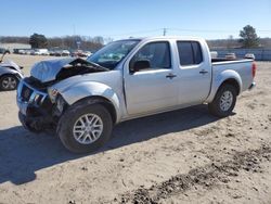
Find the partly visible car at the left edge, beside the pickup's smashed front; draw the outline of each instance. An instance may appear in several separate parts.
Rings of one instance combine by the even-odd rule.
[[[4,54],[7,54],[7,52]],[[20,67],[12,61],[3,62],[4,54],[0,59],[0,90],[15,90],[18,81],[23,78],[21,71],[23,67]]]

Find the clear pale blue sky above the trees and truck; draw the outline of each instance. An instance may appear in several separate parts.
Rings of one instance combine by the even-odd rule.
[[[1,0],[0,36],[271,37],[271,0]]]

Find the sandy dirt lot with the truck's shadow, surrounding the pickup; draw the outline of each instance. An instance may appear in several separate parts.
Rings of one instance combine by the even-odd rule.
[[[25,67],[44,58],[10,55]],[[0,92],[0,203],[271,203],[271,63],[218,119],[205,105],[118,125],[105,148],[67,152],[18,123]]]

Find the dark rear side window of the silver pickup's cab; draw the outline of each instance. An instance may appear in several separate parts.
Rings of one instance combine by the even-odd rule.
[[[203,62],[203,51],[197,41],[177,41],[181,66],[197,65]]]

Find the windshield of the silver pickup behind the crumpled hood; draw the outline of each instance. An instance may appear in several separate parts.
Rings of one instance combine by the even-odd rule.
[[[111,42],[94,54],[90,55],[87,61],[114,69],[138,43],[139,40],[120,40]]]

